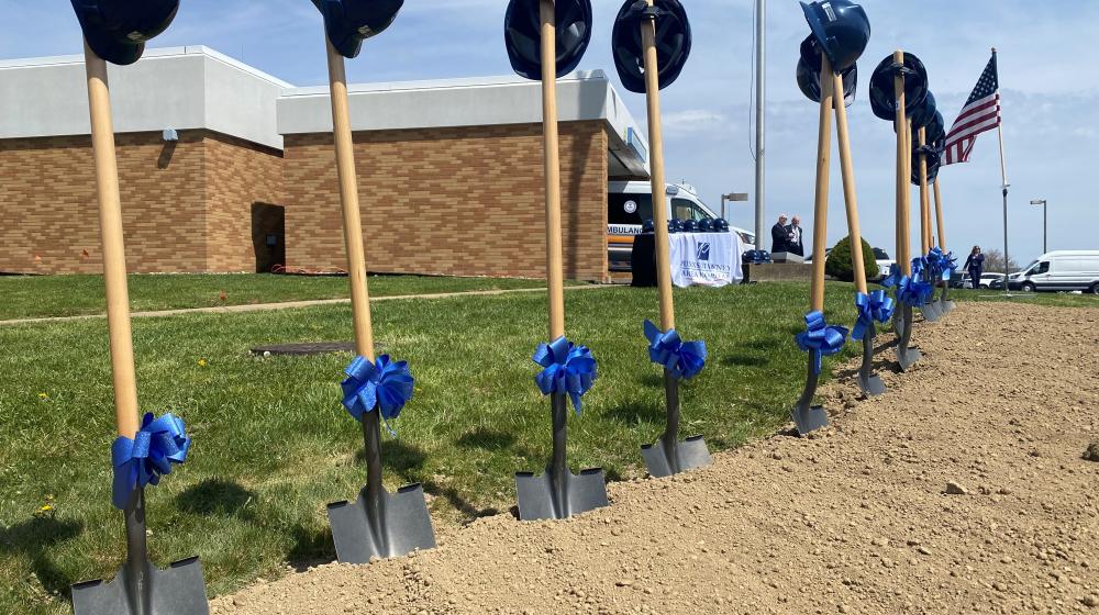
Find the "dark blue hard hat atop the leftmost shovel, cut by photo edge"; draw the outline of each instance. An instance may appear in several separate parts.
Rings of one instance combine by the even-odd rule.
[[[145,42],[167,30],[179,0],[71,0],[80,30],[97,56],[127,65],[145,53]]]

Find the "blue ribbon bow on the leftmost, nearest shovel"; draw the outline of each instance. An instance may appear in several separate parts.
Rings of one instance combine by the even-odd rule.
[[[187,461],[190,448],[182,420],[173,414],[159,418],[145,414],[133,439],[119,436],[111,445],[114,506],[124,510],[135,490],[158,484],[162,476],[171,473],[173,465]]]

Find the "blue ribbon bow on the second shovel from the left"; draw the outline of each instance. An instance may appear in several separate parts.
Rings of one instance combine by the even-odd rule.
[[[363,414],[380,409],[386,429],[396,436],[389,421],[401,415],[404,404],[412,399],[415,379],[409,371],[407,361],[392,361],[389,355],[378,357],[377,364],[363,356],[355,359],[344,370],[347,378],[340,383],[343,389],[343,405],[355,421],[363,421]]]

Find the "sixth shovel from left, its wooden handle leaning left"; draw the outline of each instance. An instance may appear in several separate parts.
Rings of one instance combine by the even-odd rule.
[[[825,79],[826,74],[821,74]],[[846,91],[843,76],[833,74],[833,92]],[[834,94],[833,94],[834,96]],[[855,290],[868,294],[866,284],[866,264],[863,261],[863,235],[858,221],[858,197],[855,191],[855,170],[851,158],[851,136],[847,128],[847,109],[842,100],[835,104],[836,137],[840,141],[840,168],[843,175],[843,197],[847,208],[847,236],[851,241],[851,262],[854,267]],[[858,368],[855,381],[866,396],[880,395],[886,392],[885,382],[874,373],[874,336],[877,329],[870,322],[863,335],[863,365]]]

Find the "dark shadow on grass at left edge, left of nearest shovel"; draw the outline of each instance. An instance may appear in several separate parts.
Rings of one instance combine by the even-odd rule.
[[[21,554],[31,560],[31,570],[52,594],[62,594],[71,600],[69,585],[78,579],[67,574],[49,558],[49,547],[75,538],[84,529],[84,523],[73,519],[58,521],[54,517],[35,517],[11,527],[0,528],[0,554]]]

